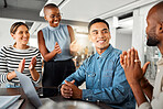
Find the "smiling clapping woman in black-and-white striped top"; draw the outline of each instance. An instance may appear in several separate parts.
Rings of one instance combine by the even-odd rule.
[[[29,26],[23,22],[15,22],[10,34],[15,43],[3,46],[0,51],[0,85],[7,83],[7,88],[20,87],[15,69],[37,84],[42,77],[41,54],[36,47],[28,45]]]

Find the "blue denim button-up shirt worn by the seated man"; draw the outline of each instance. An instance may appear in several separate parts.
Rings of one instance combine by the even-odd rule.
[[[110,44],[101,55],[96,53],[87,58],[66,80],[75,79],[76,86],[86,81],[83,100],[104,101],[113,108],[134,109],[135,100],[120,65],[120,54],[121,51]]]

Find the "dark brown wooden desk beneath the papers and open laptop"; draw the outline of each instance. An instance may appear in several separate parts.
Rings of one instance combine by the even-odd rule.
[[[36,88],[36,90],[37,89],[39,88]],[[35,109],[34,106],[29,101],[29,99],[24,95],[22,88],[0,88],[0,96],[13,96],[13,95],[21,95],[21,98],[25,99],[20,109]],[[54,97],[48,97],[48,98],[51,98],[56,102],[73,100],[73,99],[65,99],[61,95],[55,95]],[[105,105],[104,102],[90,102],[90,103],[100,107],[100,109],[112,109],[109,106]]]

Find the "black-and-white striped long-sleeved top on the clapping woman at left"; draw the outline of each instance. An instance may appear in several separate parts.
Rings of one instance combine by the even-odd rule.
[[[42,62],[41,54],[36,47],[30,46],[26,50],[18,50],[13,45],[3,46],[0,51],[0,84],[9,81],[7,75],[14,69],[18,69],[19,63],[25,58],[25,67],[23,74],[32,79],[29,65],[33,56],[36,56],[35,69],[40,74],[40,79],[42,77]],[[34,84],[39,83],[34,81]],[[18,77],[13,78],[9,83],[20,83]]]

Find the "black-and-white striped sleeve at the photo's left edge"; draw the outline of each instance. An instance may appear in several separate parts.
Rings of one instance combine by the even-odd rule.
[[[8,66],[6,61],[4,46],[0,50],[0,84],[7,83]]]

